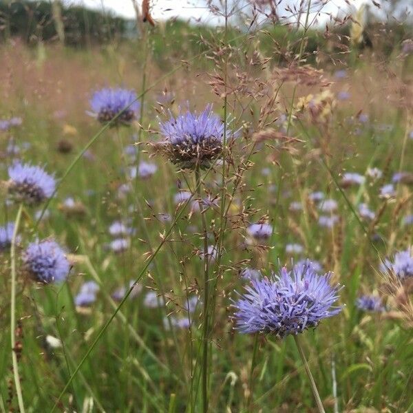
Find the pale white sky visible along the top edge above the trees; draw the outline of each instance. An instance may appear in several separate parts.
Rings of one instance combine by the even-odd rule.
[[[324,6],[326,12],[337,12],[339,8],[349,10],[348,3],[358,8],[361,3],[366,0],[329,0],[328,5]],[[66,5],[83,5],[89,8],[111,10],[120,16],[133,19],[135,17],[134,6],[131,0],[64,0]],[[241,0],[240,0],[241,2]],[[299,0],[284,0],[284,4],[299,3]],[[141,0],[137,0],[141,3]],[[191,19],[196,21],[200,19],[205,23],[215,23],[217,19],[211,15],[208,8],[205,6],[205,0],[156,0],[153,1],[151,14],[154,19],[165,20],[171,17],[179,17],[180,19]],[[279,6],[282,10],[282,6]]]

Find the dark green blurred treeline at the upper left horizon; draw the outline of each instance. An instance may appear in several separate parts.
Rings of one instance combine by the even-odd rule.
[[[129,36],[133,28],[134,22],[83,7],[0,0],[1,40],[19,36],[27,43],[60,39],[66,45],[83,46]]]

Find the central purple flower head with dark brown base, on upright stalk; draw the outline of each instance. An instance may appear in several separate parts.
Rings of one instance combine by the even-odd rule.
[[[160,123],[160,133],[165,137],[160,147],[182,168],[207,168],[222,153],[225,130],[227,139],[235,137],[208,105],[200,114],[187,111]]]

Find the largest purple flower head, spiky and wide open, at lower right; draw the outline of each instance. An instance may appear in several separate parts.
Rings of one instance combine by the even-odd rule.
[[[321,320],[341,311],[333,306],[340,288],[330,286],[330,276],[302,266],[292,271],[284,267],[271,279],[253,280],[245,287],[246,293],[233,301],[237,330],[284,338],[317,327]]]

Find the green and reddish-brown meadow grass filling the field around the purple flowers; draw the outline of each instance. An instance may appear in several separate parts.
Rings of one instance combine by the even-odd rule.
[[[22,410],[12,354],[28,412],[315,411],[301,346],[326,411],[412,411],[411,286],[380,271],[382,260],[412,244],[412,224],[403,223],[413,210],[412,179],[380,196],[394,173],[413,173],[411,56],[402,59],[395,45],[388,61],[359,52],[350,67],[325,63],[315,73],[301,62],[308,57],[301,34],[292,46],[293,63],[305,67],[299,74],[298,64],[280,65],[266,54],[253,33],[228,28],[216,38],[211,30],[200,53],[185,61],[176,47],[169,54],[167,44],[162,61],[153,59],[159,45],[154,54],[150,31],[138,50],[130,43],[100,50],[28,49],[15,40],[1,46],[1,116],[23,119],[0,132],[1,179],[8,180],[17,157],[45,165],[59,182],[47,203],[21,207],[19,241],[12,255],[1,251],[3,412]],[[345,78],[335,76],[339,68]],[[141,107],[129,127],[102,127],[86,114],[92,92],[107,85],[136,90]],[[340,100],[343,90],[350,98]],[[162,140],[158,123],[169,118],[166,109],[176,114],[188,105],[201,112],[207,103],[232,120],[224,127],[226,157],[182,171],[149,144]],[[226,141],[232,130],[239,136]],[[62,140],[68,153],[58,150]],[[16,156],[10,142],[20,148]],[[131,178],[129,169],[142,161],[156,163],[157,171]],[[382,176],[371,178],[372,168]],[[346,172],[365,180],[343,184]],[[191,197],[176,204],[180,189]],[[337,201],[337,209],[323,212],[322,201],[311,200],[315,191]],[[194,207],[207,196],[210,204]],[[362,202],[374,218],[359,215]],[[18,212],[4,192],[1,224]],[[321,215],[337,218],[326,227]],[[134,229],[118,253],[110,247],[114,221]],[[246,231],[259,221],[273,227],[264,242]],[[63,284],[23,274],[21,252],[47,237],[65,247],[72,264]],[[302,251],[288,253],[290,244]],[[215,261],[202,259],[209,246]],[[296,337],[234,330],[231,299],[248,283],[244,268],[270,277],[303,257],[333,271],[333,282],[344,286],[341,313],[304,332],[299,348]],[[100,287],[96,301],[76,306],[88,280]],[[131,281],[142,288],[138,294]],[[371,293],[381,295],[385,311],[357,307],[357,297]],[[19,352],[10,349],[10,297]],[[191,297],[198,304],[188,312]],[[174,324],[182,319],[183,327]]]

